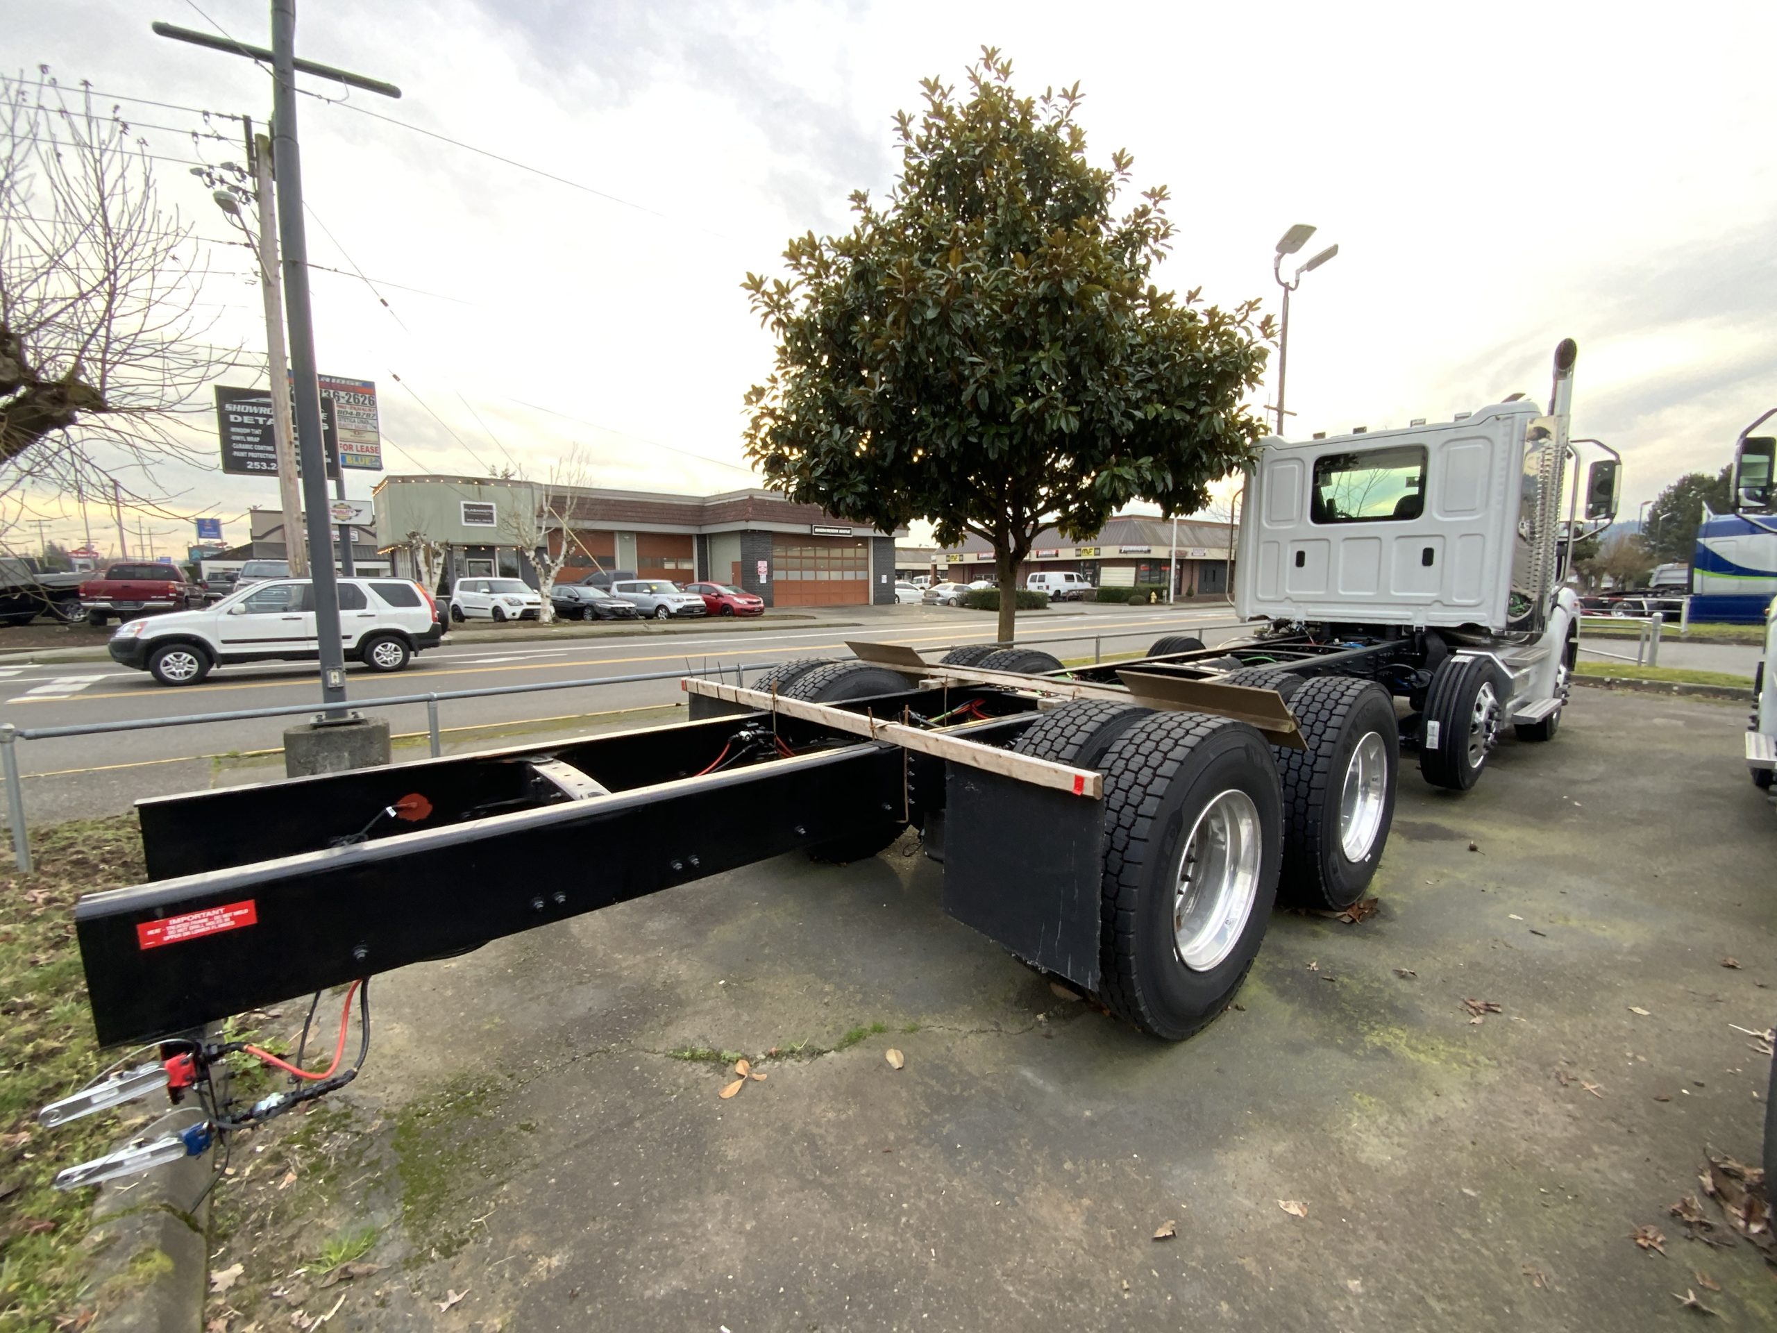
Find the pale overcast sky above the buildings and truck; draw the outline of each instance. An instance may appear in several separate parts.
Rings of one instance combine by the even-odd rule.
[[[9,57],[114,96],[267,117],[268,75],[155,37],[153,20],[268,44],[263,0],[60,0],[9,16]],[[1777,403],[1768,2],[1656,16],[306,0],[299,53],[405,94],[300,101],[325,226],[309,227],[311,259],[371,279],[315,274],[320,366],[377,380],[394,473],[540,476],[579,443],[599,485],[757,483],[741,396],[771,347],[743,275],[775,272],[791,235],[846,227],[849,190],[885,192],[892,114],[917,107],[919,78],[958,80],[983,43],[1013,57],[1022,91],[1079,80],[1089,155],[1127,148],[1137,190],[1171,188],[1162,284],[1276,309],[1278,235],[1310,222],[1310,251],[1338,242],[1292,299],[1292,435],[1546,398],[1550,354],[1573,336],[1574,435],[1624,451],[1633,515],[1676,475],[1718,469]],[[195,116],[123,105],[174,126],[144,132],[156,153],[194,153],[179,130]],[[231,144],[199,151],[238,160]],[[199,181],[160,171],[199,235],[227,240]],[[251,256],[219,245],[211,263],[210,339],[261,350]],[[375,475],[350,482],[368,496]],[[229,519],[231,540],[249,505],[277,503],[274,483],[217,473],[169,489]],[[162,551],[183,547],[188,528],[158,530]]]

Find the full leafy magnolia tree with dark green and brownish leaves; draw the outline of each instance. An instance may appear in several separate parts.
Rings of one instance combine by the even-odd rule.
[[[777,339],[746,451],[794,501],[880,531],[929,519],[944,546],[976,533],[1011,590],[1048,523],[1084,539],[1137,498],[1203,508],[1263,435],[1242,400],[1271,318],[1150,283],[1167,192],[1118,212],[1132,158],[1086,158],[1079,87],[1020,98],[990,48],[967,98],[922,89],[924,110],[897,116],[888,197],[853,194],[851,231],[800,236],[785,277],[746,277]]]

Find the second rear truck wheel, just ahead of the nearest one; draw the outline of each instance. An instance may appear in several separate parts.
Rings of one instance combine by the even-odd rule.
[[[1315,675],[1290,713],[1308,748],[1272,746],[1283,784],[1278,901],[1340,912],[1370,887],[1395,821],[1395,700],[1374,681]]]

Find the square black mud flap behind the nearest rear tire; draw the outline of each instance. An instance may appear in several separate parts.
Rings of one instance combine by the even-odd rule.
[[[1027,963],[1098,990],[1105,807],[947,764],[944,910]]]

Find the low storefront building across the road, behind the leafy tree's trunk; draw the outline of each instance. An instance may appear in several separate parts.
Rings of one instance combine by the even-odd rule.
[[[1040,571],[1073,572],[1100,588],[1155,588],[1173,585],[1175,597],[1224,597],[1231,571],[1233,526],[1201,519],[1178,521],[1173,547],[1171,519],[1120,514],[1091,540],[1075,542],[1043,528],[1018,567],[1018,587]],[[956,583],[993,578],[993,549],[979,537],[940,551],[938,569]]]

